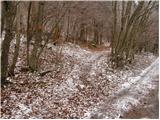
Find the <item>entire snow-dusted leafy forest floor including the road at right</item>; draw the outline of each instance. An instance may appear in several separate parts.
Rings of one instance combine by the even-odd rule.
[[[12,84],[1,91],[1,118],[158,118],[159,62],[153,54],[141,53],[113,70],[110,49],[48,44],[39,71],[31,73],[22,69],[21,44],[16,74],[8,77]]]

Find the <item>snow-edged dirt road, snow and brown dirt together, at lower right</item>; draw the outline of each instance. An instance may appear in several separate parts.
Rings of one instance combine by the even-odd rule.
[[[122,84],[99,107],[93,118],[159,118],[159,58],[138,77]]]

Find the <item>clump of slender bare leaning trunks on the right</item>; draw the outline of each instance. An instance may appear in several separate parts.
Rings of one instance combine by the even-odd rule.
[[[151,15],[153,2],[140,1],[135,6],[133,1],[120,2],[121,28],[119,29],[118,3],[113,2],[113,27],[112,27],[112,62],[115,67],[122,67],[134,59],[138,38],[143,33]]]

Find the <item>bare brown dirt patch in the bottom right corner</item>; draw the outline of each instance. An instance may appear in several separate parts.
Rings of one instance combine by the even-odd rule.
[[[124,119],[140,119],[140,118],[159,118],[159,99],[158,99],[158,89],[150,92],[148,99],[145,100],[143,105],[134,107],[133,109],[125,112]]]

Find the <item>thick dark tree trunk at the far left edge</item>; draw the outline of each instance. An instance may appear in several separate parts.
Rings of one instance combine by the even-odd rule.
[[[2,42],[2,56],[1,56],[1,83],[2,85],[6,83],[6,78],[8,76],[8,54],[10,42],[13,39],[13,21],[16,14],[16,7],[13,2],[5,1],[6,8],[6,34]]]

